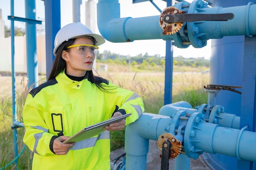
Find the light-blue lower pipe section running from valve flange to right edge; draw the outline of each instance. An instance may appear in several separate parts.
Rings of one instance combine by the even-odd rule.
[[[198,124],[194,130],[195,137],[190,140],[196,149],[256,161],[255,132],[220,127],[207,122]]]

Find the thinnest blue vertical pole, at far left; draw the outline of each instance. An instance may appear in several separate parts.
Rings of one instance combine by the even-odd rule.
[[[11,16],[14,16],[14,1],[11,0]],[[16,113],[16,86],[15,86],[15,64],[14,64],[14,21],[11,20],[11,84],[12,84],[12,122],[17,121]],[[14,124],[13,124],[14,125]],[[13,129],[13,146],[14,146],[14,157],[18,156],[18,144],[17,144],[17,129]],[[18,165],[18,160],[15,161]],[[15,167],[17,170],[17,167]]]

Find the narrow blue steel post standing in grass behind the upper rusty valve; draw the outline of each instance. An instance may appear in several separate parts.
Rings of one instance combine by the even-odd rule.
[[[172,0],[167,0],[167,7],[172,6]],[[172,103],[173,86],[173,46],[171,41],[166,41],[165,75],[164,75],[164,105]]]

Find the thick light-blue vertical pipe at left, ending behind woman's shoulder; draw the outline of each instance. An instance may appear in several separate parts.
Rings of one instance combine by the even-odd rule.
[[[36,20],[36,0],[25,0],[25,16]],[[35,88],[38,86],[36,24],[26,22],[26,43],[28,88]]]

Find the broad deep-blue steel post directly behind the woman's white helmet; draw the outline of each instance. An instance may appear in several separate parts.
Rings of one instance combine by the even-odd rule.
[[[54,61],[54,38],[61,29],[61,1],[45,0],[45,49],[46,77],[48,79]]]

